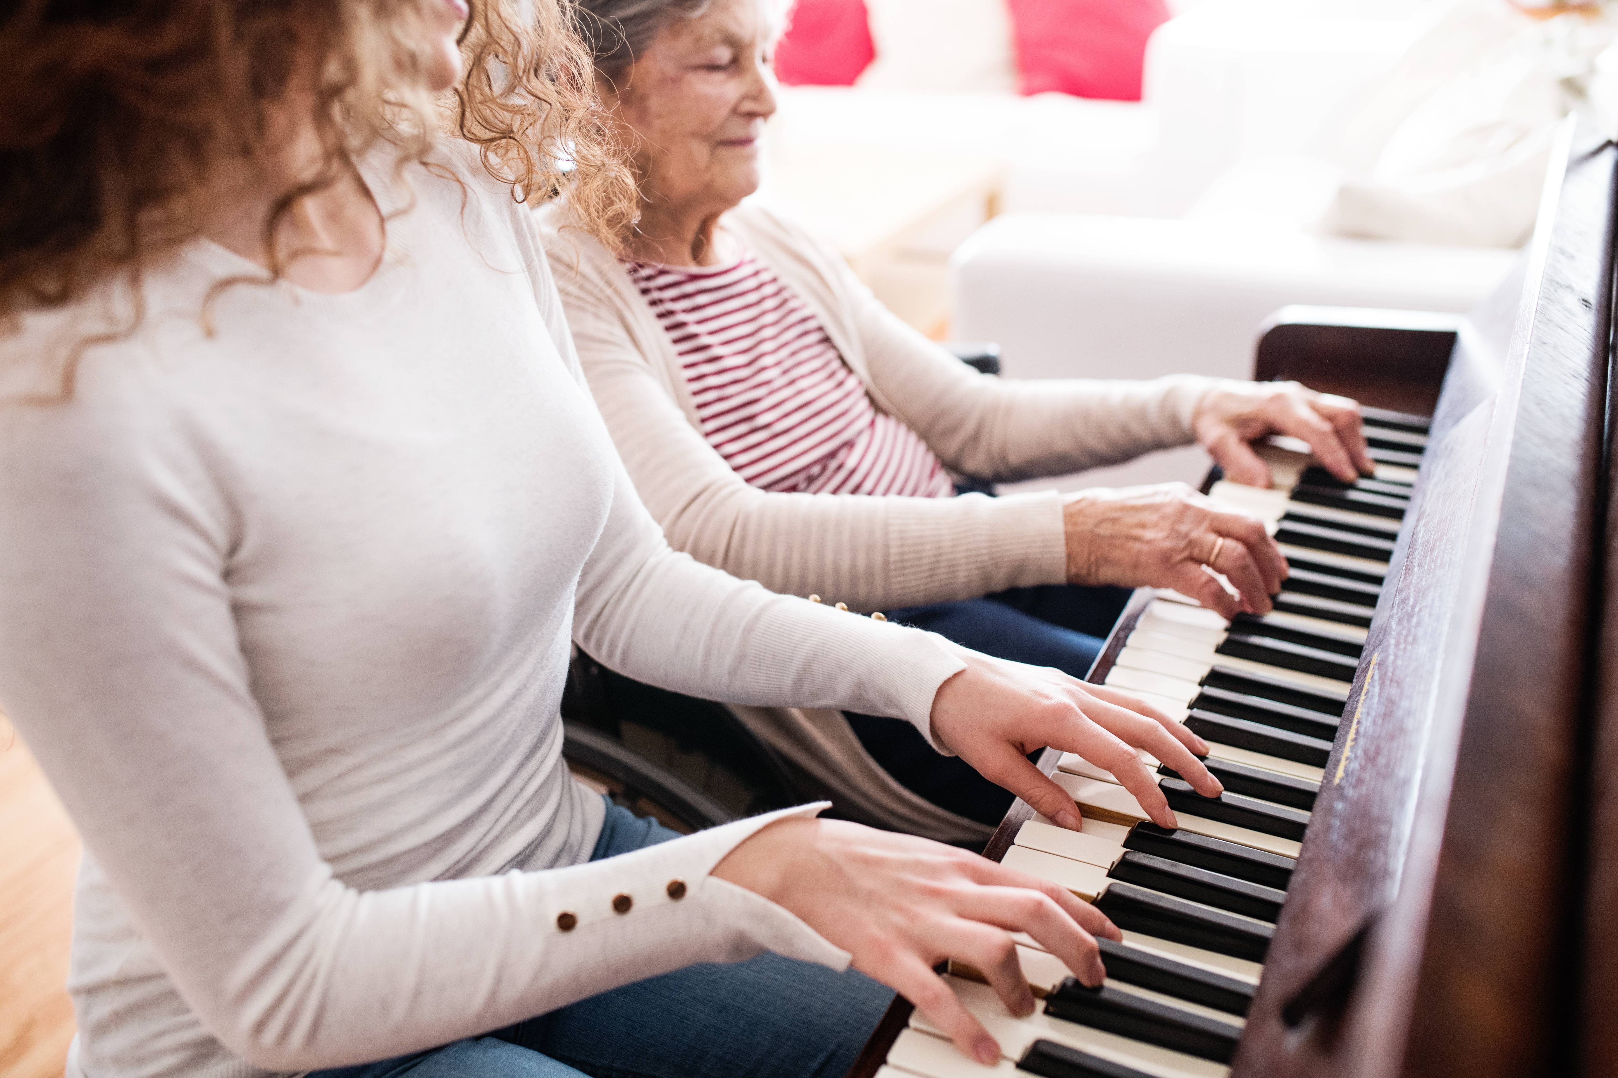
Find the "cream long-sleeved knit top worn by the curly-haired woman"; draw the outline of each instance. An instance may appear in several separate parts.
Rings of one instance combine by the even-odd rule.
[[[233,286],[210,333],[207,288],[252,267],[196,242],[70,404],[0,409],[0,706],[86,842],[74,1075],[333,1067],[693,962],[848,960],[709,876],[760,819],[582,863],[570,638],[673,690],[922,731],[959,659],[670,551],[532,215],[447,165],[464,205],[409,168],[358,291]],[[118,302],[29,317],[0,388]]]

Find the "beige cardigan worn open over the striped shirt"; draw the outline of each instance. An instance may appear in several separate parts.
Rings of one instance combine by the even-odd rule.
[[[1066,580],[1061,498],[874,498],[749,486],[709,446],[680,357],[623,265],[570,215],[540,212],[584,375],[641,498],[676,550],[788,595],[856,611]],[[1214,380],[1011,381],[971,370],[890,314],[803,229],[746,202],[723,218],[820,318],[872,401],[951,470],[987,480],[1060,475],[1192,440]],[[738,713],[788,758],[872,815],[942,839],[987,834],[911,795],[837,713]]]

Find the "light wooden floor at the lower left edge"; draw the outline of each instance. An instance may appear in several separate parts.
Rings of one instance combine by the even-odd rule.
[[[63,983],[79,839],[0,716],[0,1076],[60,1078],[73,1039]]]

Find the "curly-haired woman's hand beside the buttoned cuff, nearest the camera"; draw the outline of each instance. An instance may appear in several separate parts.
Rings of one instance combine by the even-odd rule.
[[[1011,1013],[1027,1017],[1034,996],[1010,933],[1037,939],[1089,986],[1105,976],[1095,936],[1121,939],[1100,910],[1053,882],[938,842],[833,819],[773,823],[714,874],[796,913],[987,1065],[1000,1047],[932,971],[937,963],[977,966]]]

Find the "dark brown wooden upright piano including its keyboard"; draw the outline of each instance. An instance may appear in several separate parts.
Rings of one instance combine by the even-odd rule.
[[[1210,745],[1180,829],[1045,750],[1082,832],[1018,802],[985,855],[1125,934],[1086,989],[1031,939],[1014,1018],[940,968],[1000,1041],[982,1067],[898,999],[851,1078],[1618,1073],[1618,574],[1608,525],[1618,149],[1563,131],[1535,236],[1466,318],[1288,309],[1257,377],[1362,401],[1375,475],[1301,443],[1269,490],[1291,566],[1226,622],[1134,593],[1091,671]]]

